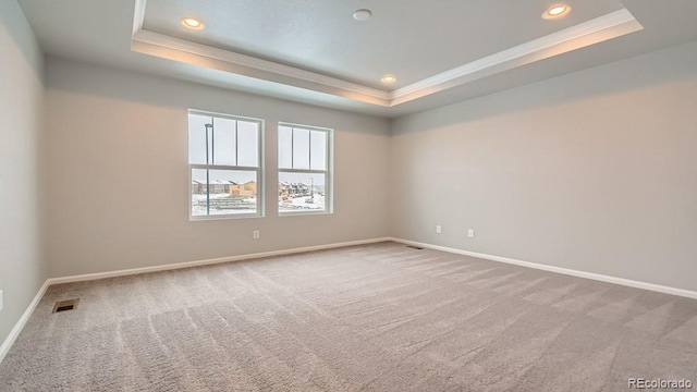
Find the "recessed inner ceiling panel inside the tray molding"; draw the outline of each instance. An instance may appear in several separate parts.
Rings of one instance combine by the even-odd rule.
[[[382,74],[398,75],[401,87],[623,8],[616,0],[572,2],[568,17],[545,23],[547,0],[439,0],[437,9],[423,0],[147,0],[143,27],[384,88]],[[352,17],[362,8],[372,11],[370,20]],[[183,15],[207,28],[187,30]]]

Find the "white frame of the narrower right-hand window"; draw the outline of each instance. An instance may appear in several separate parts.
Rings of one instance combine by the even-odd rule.
[[[309,131],[318,131],[325,132],[327,134],[326,137],[326,148],[327,148],[327,169],[326,170],[311,170],[311,169],[282,169],[280,164],[277,164],[277,170],[279,174],[281,173],[303,173],[303,174],[325,174],[325,209],[323,210],[297,210],[297,211],[281,211],[279,208],[278,197],[277,197],[277,208],[279,211],[279,217],[293,217],[293,216],[305,216],[305,215],[328,215],[334,212],[334,130],[315,125],[305,125],[290,122],[279,122],[278,128],[281,126],[288,126],[291,128],[302,128]],[[277,128],[277,130],[278,130]],[[278,135],[277,135],[278,136]],[[277,157],[279,151],[279,144],[277,140]],[[310,151],[308,152],[311,159],[311,146]],[[291,166],[293,164],[293,158],[291,157]],[[311,161],[309,167],[311,168]],[[278,195],[278,184],[277,184],[277,195]]]

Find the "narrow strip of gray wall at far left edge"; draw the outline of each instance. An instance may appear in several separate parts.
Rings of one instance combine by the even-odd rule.
[[[46,279],[39,150],[42,54],[14,0],[0,1],[0,343]]]

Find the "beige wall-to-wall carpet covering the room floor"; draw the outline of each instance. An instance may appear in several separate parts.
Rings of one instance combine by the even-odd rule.
[[[395,243],[51,286],[0,364],[2,391],[625,391],[628,378],[697,383],[697,301]]]

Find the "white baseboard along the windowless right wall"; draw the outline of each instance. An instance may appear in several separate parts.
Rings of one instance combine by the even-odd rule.
[[[592,279],[601,282],[614,283],[614,284],[625,285],[625,286],[635,287],[635,289],[644,289],[644,290],[655,291],[659,293],[678,295],[683,297],[697,299],[697,292],[685,290],[685,289],[677,289],[677,287],[664,286],[660,284],[639,282],[631,279],[609,277],[601,273],[578,271],[578,270],[563,268],[563,267],[547,266],[547,265],[537,264],[537,262],[516,260],[508,257],[492,256],[492,255],[480,254],[476,252],[452,248],[448,246],[431,245],[431,244],[426,244],[426,243],[420,243],[420,242],[409,241],[409,240],[390,237],[390,241],[394,241],[405,245],[413,245],[413,246],[418,246],[418,247],[424,247],[429,249],[453,253],[457,255],[472,256],[472,257],[477,257],[477,258],[492,260],[492,261],[500,261],[500,262],[505,262],[505,264],[521,266],[521,267],[563,273],[572,277]]]

